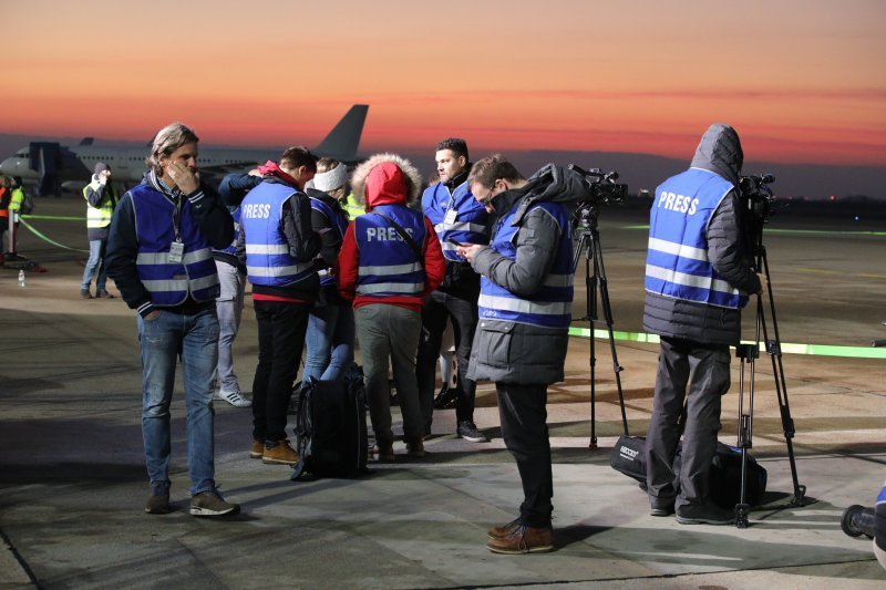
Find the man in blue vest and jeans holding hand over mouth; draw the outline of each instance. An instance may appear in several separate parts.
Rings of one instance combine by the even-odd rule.
[[[234,239],[220,198],[200,185],[197,135],[182,123],[161,130],[142,184],[123,195],[111,221],[107,276],[136,310],[142,346],[142,435],[151,495],[147,514],[169,513],[169,404],[182,359],[187,408],[190,514],[222,516],[239,506],[215,484],[213,373],[218,359],[212,248]]]

